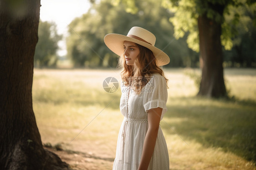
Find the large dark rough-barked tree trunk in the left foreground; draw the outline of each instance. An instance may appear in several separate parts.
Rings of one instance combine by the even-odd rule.
[[[40,0],[0,0],[0,170],[66,170],[44,150],[32,108]]]

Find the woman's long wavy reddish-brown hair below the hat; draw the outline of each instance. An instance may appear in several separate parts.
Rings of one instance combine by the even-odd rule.
[[[136,43],[135,43],[136,44]],[[121,76],[124,85],[131,85],[136,93],[140,93],[142,88],[148,83],[154,73],[164,76],[164,71],[156,64],[156,58],[151,50],[138,45],[139,55],[134,60],[133,65],[127,65],[124,55],[118,60],[118,67],[122,68]],[[166,84],[168,79],[164,76]]]

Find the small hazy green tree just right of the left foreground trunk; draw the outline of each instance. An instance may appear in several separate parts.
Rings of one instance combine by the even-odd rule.
[[[57,34],[56,24],[40,20],[38,27],[38,42],[34,62],[36,67],[55,66],[58,60],[56,51],[58,41],[62,36]]]

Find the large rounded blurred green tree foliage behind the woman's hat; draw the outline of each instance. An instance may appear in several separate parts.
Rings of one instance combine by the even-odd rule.
[[[113,54],[103,42],[109,33],[127,34],[131,27],[141,26],[156,36],[156,46],[170,56],[168,66],[193,66],[199,55],[187,47],[185,38],[175,40],[173,25],[169,18],[173,15],[154,0],[129,2],[102,0],[92,4],[92,8],[69,25],[67,37],[68,57],[76,66],[116,67],[117,55]],[[128,13],[127,8],[138,9]],[[133,8],[135,6],[136,8]]]

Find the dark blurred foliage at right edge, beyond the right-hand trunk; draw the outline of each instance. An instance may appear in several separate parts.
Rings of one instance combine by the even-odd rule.
[[[229,31],[233,48],[224,51],[225,66],[256,67],[256,3],[239,7],[230,6],[229,15],[225,15],[223,31]],[[226,34],[226,35],[227,35]]]

